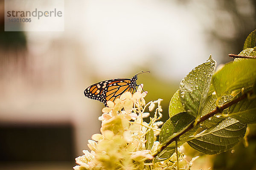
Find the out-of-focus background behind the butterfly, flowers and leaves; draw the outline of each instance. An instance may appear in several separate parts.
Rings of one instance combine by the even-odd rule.
[[[0,0],[0,169],[71,170],[99,133],[103,104],[85,88],[131,78],[163,99],[210,54],[218,65],[256,28],[255,0],[65,0],[65,31],[4,31]],[[192,169],[256,170],[256,128],[243,143]],[[189,156],[201,155],[186,146]]]

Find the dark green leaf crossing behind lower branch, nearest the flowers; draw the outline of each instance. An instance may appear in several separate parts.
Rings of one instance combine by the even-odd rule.
[[[167,139],[170,136],[174,135],[174,133],[179,132],[194,120],[195,120],[195,117],[186,112],[181,112],[176,114],[175,116],[172,116],[163,124],[159,134],[159,142],[163,144],[164,142],[167,141]],[[188,132],[180,136],[180,140],[178,140],[178,146],[188,141],[190,139],[189,136],[193,135],[196,130],[197,130],[197,127],[193,128],[192,130],[189,130]],[[166,149],[164,149],[157,156],[157,159],[158,161],[161,161],[163,159],[168,159],[170,156],[172,156],[172,153],[174,152],[175,152],[175,142],[172,142],[171,144],[169,144],[168,147],[166,147]]]

